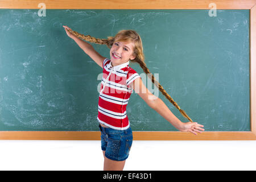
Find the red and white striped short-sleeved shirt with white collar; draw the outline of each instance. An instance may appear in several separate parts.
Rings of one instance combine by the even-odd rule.
[[[130,84],[140,78],[138,73],[130,68],[130,61],[113,67],[111,60],[102,63],[100,96],[98,100],[98,122],[115,130],[126,130],[130,123],[126,115],[126,106],[133,88]]]

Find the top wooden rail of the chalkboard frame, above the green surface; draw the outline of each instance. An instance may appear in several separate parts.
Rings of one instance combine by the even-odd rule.
[[[39,3],[44,3],[46,9],[209,9],[210,3],[217,5],[217,9],[251,9],[255,0],[1,0],[0,9],[40,9]]]

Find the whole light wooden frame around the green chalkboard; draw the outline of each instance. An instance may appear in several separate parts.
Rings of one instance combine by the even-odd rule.
[[[2,0],[1,9],[40,9],[41,0]],[[256,140],[256,0],[44,0],[46,9],[249,9],[250,11],[250,131],[204,131],[199,135],[180,131],[133,131],[134,140]],[[0,131],[0,139],[100,140],[100,131]]]

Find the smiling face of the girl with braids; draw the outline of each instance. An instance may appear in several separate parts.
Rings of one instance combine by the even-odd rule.
[[[110,59],[113,67],[135,59],[135,56],[133,55],[133,48],[133,42],[114,42],[110,49]]]

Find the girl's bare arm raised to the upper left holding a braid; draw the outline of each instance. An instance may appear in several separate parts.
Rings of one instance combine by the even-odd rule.
[[[67,35],[73,39],[77,45],[88,55],[92,60],[95,61],[96,64],[98,64],[102,68],[102,62],[106,59],[106,57],[103,57],[98,53],[91,44],[85,42],[84,40],[81,40],[77,38],[77,36],[71,34],[67,29],[67,26],[63,26],[65,28],[65,31],[67,32]]]

